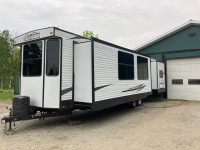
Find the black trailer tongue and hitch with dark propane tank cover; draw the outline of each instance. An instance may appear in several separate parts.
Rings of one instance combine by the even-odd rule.
[[[9,110],[9,115],[1,119],[1,124],[5,124],[5,130],[12,130],[12,123],[15,128],[16,121],[44,119],[55,116],[72,115],[73,111],[58,111],[58,110],[40,110],[30,106],[30,98],[28,96],[15,96],[12,100],[12,109]]]

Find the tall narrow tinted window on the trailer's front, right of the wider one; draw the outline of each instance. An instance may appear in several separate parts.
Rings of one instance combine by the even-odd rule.
[[[58,76],[59,74],[59,45],[58,39],[47,41],[46,75]]]

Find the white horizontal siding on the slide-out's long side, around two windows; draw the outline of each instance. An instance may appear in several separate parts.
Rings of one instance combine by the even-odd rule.
[[[118,79],[118,51],[134,55],[134,80]],[[109,85],[95,91],[95,101],[151,92],[150,59],[148,58],[148,80],[137,79],[137,54],[94,42],[94,79],[95,88]],[[140,55],[139,55],[140,56]],[[143,56],[142,56],[143,57]],[[123,92],[129,88],[145,84],[140,91]]]

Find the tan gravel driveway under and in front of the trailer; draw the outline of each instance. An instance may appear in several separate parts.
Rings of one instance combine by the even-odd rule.
[[[0,117],[7,115],[0,102]],[[69,117],[17,122],[16,134],[0,128],[0,149],[8,150],[199,150],[200,102],[144,103],[135,109],[117,107],[79,116],[81,125],[69,126]]]

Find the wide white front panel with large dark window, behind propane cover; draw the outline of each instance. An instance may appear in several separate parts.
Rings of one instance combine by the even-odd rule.
[[[42,107],[44,41],[22,46],[21,95],[30,97],[31,106]]]

